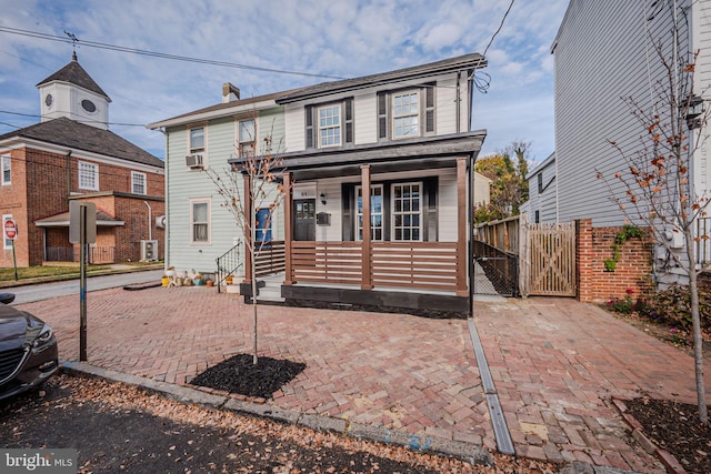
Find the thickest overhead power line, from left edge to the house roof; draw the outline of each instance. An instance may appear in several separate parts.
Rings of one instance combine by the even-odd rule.
[[[38,32],[38,31],[21,30],[19,28],[0,27],[0,32],[10,33],[10,34],[18,34],[18,36],[21,36],[21,37],[39,38],[39,39],[48,40],[48,41],[58,41],[58,42],[62,42],[62,43],[72,43],[73,46],[77,44],[73,39],[67,39],[67,38],[63,38],[63,37],[58,37],[58,36],[49,34],[49,33],[41,33],[41,32]],[[77,40],[77,41],[79,41],[79,40]],[[120,47],[120,46],[116,46],[116,44],[101,43],[101,42],[98,42],[98,41],[81,40],[81,41],[79,41],[79,43],[82,44],[82,46],[90,47],[90,48],[98,48],[98,49],[106,49],[106,50],[111,50],[111,51],[128,52],[128,53],[131,53],[131,54],[149,56],[149,57],[152,57],[152,58],[171,59],[171,60],[176,60],[176,61],[194,62],[194,63],[199,63],[199,64],[220,65],[220,67],[223,67],[223,68],[247,69],[247,70],[250,70],[250,71],[273,72],[273,73],[277,73],[277,74],[306,75],[306,77],[310,77],[310,78],[346,79],[346,78],[342,78],[342,77],[339,77],[339,75],[318,74],[318,73],[313,73],[313,72],[301,72],[301,71],[289,71],[289,70],[284,70],[284,69],[262,68],[262,67],[258,67],[258,65],[239,64],[239,63],[236,63],[236,62],[214,61],[214,60],[210,60],[210,59],[201,59],[201,58],[191,58],[191,57],[187,57],[187,56],[168,54],[168,53],[163,53],[163,52],[154,52],[154,51],[148,51],[148,50],[142,50],[142,49],[136,49],[136,48]]]

